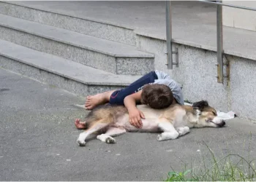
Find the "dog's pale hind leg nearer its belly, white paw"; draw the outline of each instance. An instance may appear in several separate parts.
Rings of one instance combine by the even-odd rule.
[[[127,131],[122,128],[109,127],[107,132],[105,132],[105,134],[97,135],[97,139],[99,139],[99,141],[103,141],[105,143],[116,143],[115,138],[113,138],[112,136],[121,135],[125,132],[127,132]]]

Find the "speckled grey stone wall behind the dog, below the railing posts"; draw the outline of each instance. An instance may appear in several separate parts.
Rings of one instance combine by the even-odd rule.
[[[138,36],[141,50],[155,54],[155,68],[166,71],[183,85],[184,99],[208,100],[222,111],[235,111],[238,116],[256,119],[256,61],[225,55],[230,60],[230,82],[217,83],[217,52],[182,44],[178,47],[179,66],[167,70],[165,41]]]

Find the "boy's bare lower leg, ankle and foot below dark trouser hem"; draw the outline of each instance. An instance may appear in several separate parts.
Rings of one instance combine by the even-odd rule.
[[[110,100],[110,96],[115,91],[116,90],[111,90],[108,92],[99,93],[97,95],[89,95],[86,98],[86,109],[91,110],[91,109],[95,108],[96,106],[99,106],[104,103],[108,103]]]

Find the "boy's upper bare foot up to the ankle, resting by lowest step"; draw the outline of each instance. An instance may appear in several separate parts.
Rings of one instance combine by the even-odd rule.
[[[100,104],[106,102],[105,93],[99,93],[97,95],[89,95],[86,100],[86,110],[91,110]]]

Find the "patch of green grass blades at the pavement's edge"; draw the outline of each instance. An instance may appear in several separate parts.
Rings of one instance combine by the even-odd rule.
[[[206,145],[206,143],[205,143]],[[256,170],[254,160],[242,157],[239,154],[228,154],[218,159],[214,151],[206,145],[211,154],[210,165],[206,165],[203,159],[203,165],[200,167],[184,166],[182,172],[177,173],[172,168],[165,181],[256,181]],[[249,145],[250,149],[250,145]],[[250,151],[250,150],[249,150]]]

